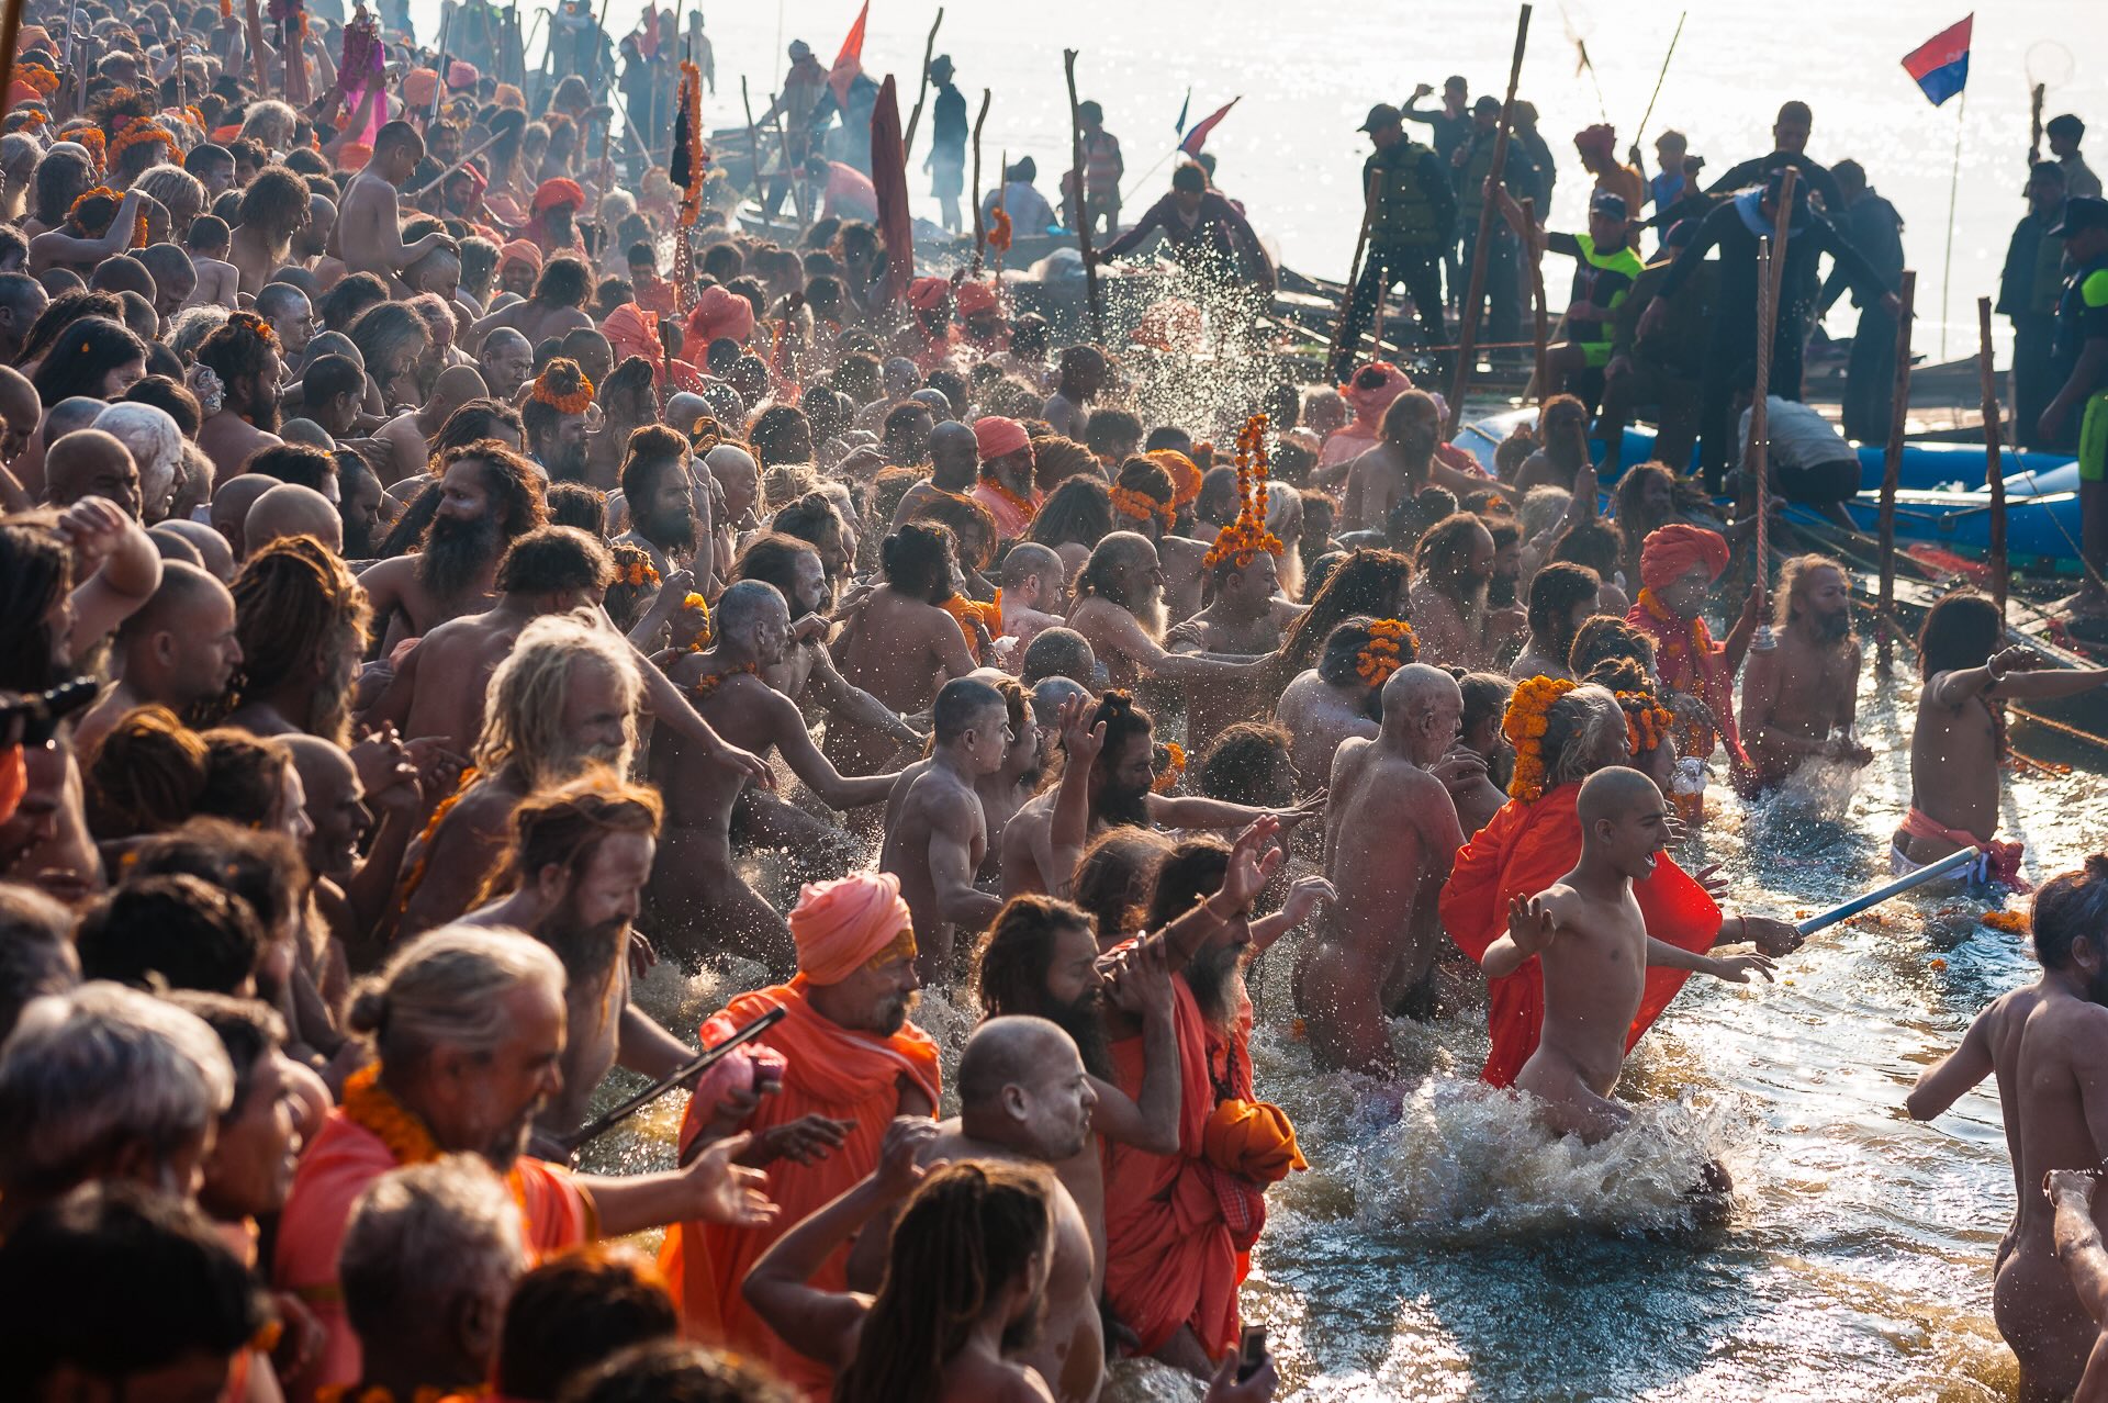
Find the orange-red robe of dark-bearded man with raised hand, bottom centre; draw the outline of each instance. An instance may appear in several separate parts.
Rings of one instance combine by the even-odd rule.
[[[1227,1098],[1252,1100],[1250,1011],[1235,1036],[1202,1017],[1185,977],[1172,980],[1178,1032],[1178,1152],[1149,1154],[1100,1140],[1105,1159],[1105,1300],[1153,1355],[1191,1325],[1221,1359],[1237,1344],[1237,1285],[1267,1222],[1263,1188],[1202,1154],[1208,1117]],[[1113,1043],[1113,1085],[1143,1093],[1143,1039]]]

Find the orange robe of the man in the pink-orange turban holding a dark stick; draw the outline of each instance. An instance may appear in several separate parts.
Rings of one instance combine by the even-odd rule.
[[[852,1188],[879,1163],[885,1127],[900,1112],[900,1083],[906,1079],[938,1104],[940,1074],[936,1041],[906,1024],[892,1036],[852,1032],[835,1024],[805,1001],[805,975],[786,986],[740,994],[725,1011],[702,1024],[704,1047],[715,1047],[736,1028],[782,1007],[788,1017],[763,1032],[757,1043],[784,1055],[782,1089],[761,1098],[761,1108],[746,1129],[765,1131],[799,1117],[833,1117],[847,1121],[841,1146],[822,1161],[797,1165],[780,1159],[767,1167],[767,1192],[782,1213],[763,1228],[727,1228],[723,1224],[681,1222],[666,1230],[660,1270],[672,1287],[675,1304],[687,1333],[708,1344],[721,1344],[742,1355],[765,1359],[790,1384],[809,1397],[824,1399],[833,1374],[805,1359],[776,1338],[776,1331],[746,1306],[740,1283],[778,1237]],[[689,1102],[681,1117],[681,1150],[708,1119],[710,1106]],[[843,1245],[812,1277],[822,1291],[847,1289],[850,1247]]]

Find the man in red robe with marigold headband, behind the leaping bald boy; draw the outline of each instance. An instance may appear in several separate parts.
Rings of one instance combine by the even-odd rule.
[[[1575,687],[1570,680],[1528,678],[1501,720],[1516,746],[1516,777],[1509,798],[1478,834],[1457,851],[1448,885],[1442,887],[1442,927],[1473,961],[1486,959],[1495,940],[1507,933],[1507,904],[1556,885],[1581,857],[1581,782],[1606,765],[1632,760],[1625,712],[1604,687]],[[1667,853],[1644,881],[1632,883],[1646,933],[1680,950],[1701,952],[1716,944],[1750,940],[1764,954],[1790,954],[1802,935],[1769,916],[1724,916],[1712,893]],[[1686,969],[1651,967],[1640,994],[1640,1011],[1625,1032],[1625,1051],[1640,1041],[1676,990],[1691,977]],[[1545,1024],[1545,971],[1537,956],[1514,973],[1486,982],[1486,1028],[1492,1051],[1480,1076],[1507,1087],[1537,1051]]]

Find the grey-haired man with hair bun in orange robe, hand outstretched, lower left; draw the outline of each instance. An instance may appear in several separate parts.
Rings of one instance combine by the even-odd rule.
[[[742,1142],[677,1173],[590,1178],[523,1154],[535,1112],[561,1087],[563,963],[519,933],[460,925],[426,931],[382,969],[377,994],[352,1005],[350,1026],[373,1036],[379,1062],[344,1083],[299,1159],[278,1218],[272,1283],[293,1291],[327,1331],[291,1397],[360,1376],[358,1338],[337,1289],[337,1245],[358,1194],[398,1165],[483,1154],[521,1205],[527,1251],[554,1256],[599,1237],[694,1218],[759,1222],[759,1182],[727,1169]]]

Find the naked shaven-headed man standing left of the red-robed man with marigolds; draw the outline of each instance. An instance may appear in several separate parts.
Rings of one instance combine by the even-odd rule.
[[[1436,897],[1463,830],[1448,790],[1429,773],[1457,739],[1463,691],[1427,664],[1383,683],[1374,737],[1332,756],[1324,870],[1334,900],[1318,937],[1296,956],[1296,1011],[1320,1066],[1389,1072],[1385,1009],[1419,992],[1442,948]]]

